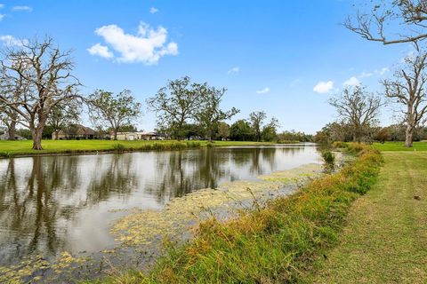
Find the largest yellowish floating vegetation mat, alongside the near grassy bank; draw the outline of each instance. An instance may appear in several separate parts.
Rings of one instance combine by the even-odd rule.
[[[176,236],[182,239],[189,227],[206,215],[230,217],[230,212],[245,208],[248,201],[266,201],[278,194],[292,193],[292,189],[318,176],[320,171],[321,165],[309,164],[260,176],[254,181],[233,181],[218,189],[197,190],[169,201],[164,209],[133,209],[112,226],[110,233],[123,246],[133,247],[160,244],[165,238]]]

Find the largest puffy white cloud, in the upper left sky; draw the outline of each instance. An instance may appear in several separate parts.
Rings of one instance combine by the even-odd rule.
[[[117,25],[97,28],[95,34],[102,36],[104,41],[120,54],[120,57],[117,58],[118,62],[142,62],[152,65],[165,55],[178,54],[178,44],[166,43],[167,30],[165,28],[150,28],[143,22],[138,27],[138,33],[135,36],[125,34],[125,31]]]

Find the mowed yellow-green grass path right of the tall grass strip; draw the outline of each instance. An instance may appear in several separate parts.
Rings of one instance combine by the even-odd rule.
[[[383,156],[378,183],[355,201],[341,243],[307,282],[427,283],[427,153]]]

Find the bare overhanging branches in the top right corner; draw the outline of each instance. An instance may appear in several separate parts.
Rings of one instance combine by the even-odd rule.
[[[427,38],[426,0],[378,0],[370,10],[348,17],[344,26],[368,41],[383,44],[415,43]]]

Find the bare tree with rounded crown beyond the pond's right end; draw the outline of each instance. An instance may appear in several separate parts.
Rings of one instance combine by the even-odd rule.
[[[350,125],[353,140],[361,142],[370,127],[377,122],[383,101],[363,86],[346,87],[329,100],[343,122]]]

